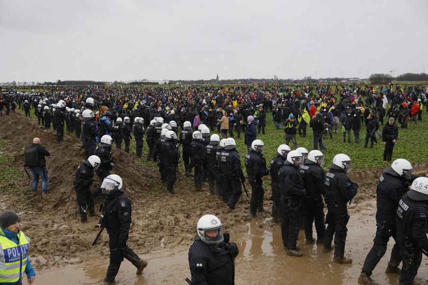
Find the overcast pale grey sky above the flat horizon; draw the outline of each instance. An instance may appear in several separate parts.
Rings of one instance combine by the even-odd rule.
[[[0,82],[428,73],[427,11],[427,0],[0,0]]]

